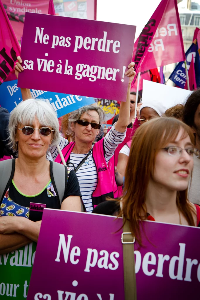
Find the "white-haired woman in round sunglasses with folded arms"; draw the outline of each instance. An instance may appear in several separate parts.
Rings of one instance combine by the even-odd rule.
[[[56,113],[46,101],[28,99],[11,113],[9,145],[17,158],[0,162],[4,174],[0,190],[5,182],[0,199],[0,254],[37,241],[43,207],[81,211],[74,171],[46,159],[47,150],[59,139]],[[11,175],[5,179],[9,166]],[[62,193],[55,182],[63,178]]]

